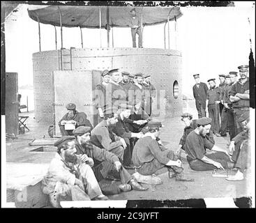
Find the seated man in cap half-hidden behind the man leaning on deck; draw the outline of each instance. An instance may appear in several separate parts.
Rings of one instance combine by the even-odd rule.
[[[188,134],[197,128],[197,120],[193,120],[193,115],[189,113],[183,113],[181,115],[181,121],[186,125],[183,131],[181,140],[179,141],[179,148],[176,150],[176,155],[181,158],[182,150],[185,151],[185,142]],[[206,133],[205,139],[209,140],[210,143],[215,144],[213,137],[213,132],[210,130],[209,133]]]

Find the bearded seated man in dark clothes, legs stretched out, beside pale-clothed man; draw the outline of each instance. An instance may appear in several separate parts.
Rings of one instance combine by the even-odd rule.
[[[77,154],[81,155],[84,162],[89,162],[93,159],[93,171],[98,181],[107,177],[110,172],[114,171],[114,175],[119,175],[121,179],[121,191],[128,190],[147,190],[148,188],[142,187],[135,179],[130,176],[128,171],[122,166],[119,161],[119,157],[114,155],[104,148],[98,148],[90,142],[91,129],[89,127],[81,126],[73,131],[75,135],[75,146],[77,148]],[[126,185],[126,187],[123,187]],[[127,185],[130,187],[127,187]],[[122,189],[126,188],[126,190]],[[127,189],[128,188],[128,189]]]

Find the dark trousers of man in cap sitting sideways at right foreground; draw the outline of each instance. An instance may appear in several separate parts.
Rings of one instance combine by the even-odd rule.
[[[216,162],[220,162],[220,164],[222,164],[224,168],[227,168],[227,169],[229,168],[229,165],[228,165],[228,163],[230,162],[229,157],[223,152],[206,154],[206,157]],[[190,168],[195,171],[207,171],[207,170],[217,169],[217,167],[215,167],[213,164],[203,162],[202,160],[198,160],[198,159],[190,160],[190,157],[188,156],[187,156],[187,160]]]

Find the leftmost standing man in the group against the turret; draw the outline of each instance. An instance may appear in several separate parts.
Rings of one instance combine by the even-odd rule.
[[[98,109],[98,114],[100,118],[104,117],[104,112],[107,107],[107,86],[110,86],[110,72],[109,70],[103,70],[101,72],[101,77],[103,82],[96,85],[95,91],[95,104],[96,109]],[[110,105],[109,105],[110,106]],[[100,119],[101,121],[102,119]]]

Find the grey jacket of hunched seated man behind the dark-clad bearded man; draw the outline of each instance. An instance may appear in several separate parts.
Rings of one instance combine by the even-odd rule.
[[[107,151],[111,151],[113,148],[123,146],[120,138],[107,127],[105,120],[101,121],[91,131],[91,143],[99,148],[105,148]]]

